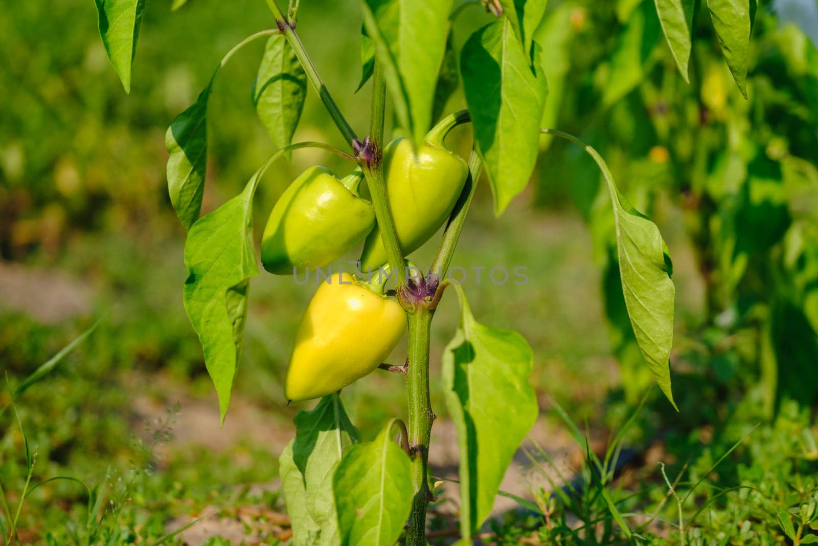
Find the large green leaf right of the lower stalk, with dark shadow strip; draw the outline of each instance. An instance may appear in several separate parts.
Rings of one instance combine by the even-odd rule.
[[[461,287],[461,324],[443,353],[443,393],[460,449],[461,535],[488,517],[519,444],[537,421],[533,354],[519,333],[474,320]]]

